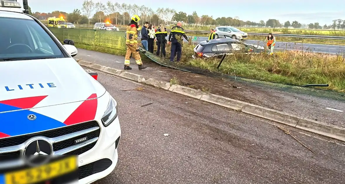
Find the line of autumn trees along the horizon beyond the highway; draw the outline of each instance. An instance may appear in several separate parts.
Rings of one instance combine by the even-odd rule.
[[[301,24],[298,21],[289,21],[281,24],[279,20],[269,19],[266,22],[260,20],[257,22],[239,20],[238,17],[218,17],[201,15],[196,11],[192,14],[185,12],[177,12],[170,8],[152,8],[144,5],[126,4],[108,1],[105,4],[102,2],[95,2],[93,0],[84,0],[81,9],[74,9],[73,12],[67,13],[63,11],[53,11],[51,13],[34,12],[33,16],[40,20],[47,20],[48,17],[64,17],[68,22],[77,24],[94,24],[96,22],[111,22],[113,24],[128,24],[132,14],[138,14],[141,18],[141,23],[148,21],[152,24],[158,25],[160,23],[171,24],[176,21],[183,21],[192,27],[201,26],[218,26],[231,25],[235,27],[270,27],[270,28],[308,28],[308,29],[344,29],[345,20],[334,20],[333,24],[319,25],[318,22],[308,25]]]

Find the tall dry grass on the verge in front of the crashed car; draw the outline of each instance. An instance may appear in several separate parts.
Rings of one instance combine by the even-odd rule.
[[[345,58],[340,55],[299,51],[229,55],[217,69],[219,59],[190,59],[184,65],[268,82],[305,85],[329,84],[327,89],[345,92]]]

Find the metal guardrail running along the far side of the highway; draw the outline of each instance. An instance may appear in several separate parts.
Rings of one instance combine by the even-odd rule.
[[[88,25],[76,25],[76,27],[93,28],[93,26]],[[122,29],[122,30],[121,30]],[[120,31],[124,31],[126,28],[119,28]],[[171,31],[171,29],[167,29]],[[185,30],[187,33],[205,33],[209,34],[209,31],[196,31],[196,30]],[[267,36],[267,33],[248,33],[250,36]],[[324,40],[345,40],[345,37],[334,37],[334,36],[319,36],[319,35],[299,35],[299,34],[274,34],[275,37],[285,37],[285,38],[305,38],[305,39],[324,39]]]

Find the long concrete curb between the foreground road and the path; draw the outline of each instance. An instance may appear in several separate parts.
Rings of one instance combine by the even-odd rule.
[[[250,104],[247,102],[242,102],[242,101],[226,98],[224,96],[204,93],[202,91],[188,88],[186,86],[181,86],[177,84],[170,85],[169,82],[165,82],[165,81],[159,81],[152,78],[145,80],[144,76],[142,75],[138,75],[138,74],[122,71],[122,70],[117,70],[114,68],[102,66],[102,65],[91,63],[88,61],[83,61],[83,60],[76,60],[76,61],[84,67],[114,74],[114,75],[117,75],[126,79],[130,79],[139,83],[152,85],[157,88],[183,94],[191,98],[217,104],[217,105],[220,105],[220,106],[223,106],[235,111],[240,111],[240,112],[251,114],[257,117],[262,117],[267,120],[275,121],[278,123],[295,127],[297,129],[313,132],[319,135],[331,137],[331,138],[345,142],[345,128],[342,128],[339,126],[305,119],[302,117],[295,116],[293,114],[287,114],[287,113],[280,112],[274,109],[265,108],[263,106],[258,106],[258,105]]]

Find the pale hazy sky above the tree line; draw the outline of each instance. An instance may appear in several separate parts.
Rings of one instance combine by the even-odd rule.
[[[21,1],[21,0],[18,0]],[[108,0],[94,0],[106,3]],[[111,2],[129,3],[133,1],[110,0]],[[57,3],[59,2],[59,3]],[[32,12],[52,12],[55,10],[72,12],[81,9],[83,0],[28,0]],[[194,10],[199,16],[207,14],[217,17],[239,17],[240,20],[259,22],[260,20],[277,19],[280,23],[297,20],[300,23],[319,22],[320,25],[331,24],[332,20],[345,20],[345,0],[166,0],[134,1],[154,10],[172,8],[177,12],[191,14]],[[169,2],[169,3],[168,3]],[[211,6],[210,6],[211,5]],[[211,8],[210,8],[211,7]]]

